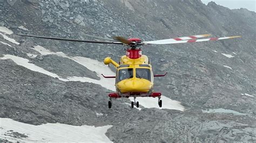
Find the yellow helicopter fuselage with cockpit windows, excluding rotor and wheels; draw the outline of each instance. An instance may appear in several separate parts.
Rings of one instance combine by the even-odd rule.
[[[116,91],[118,94],[147,94],[153,89],[153,73],[149,59],[146,55],[142,55],[138,59],[130,59],[122,56],[120,65],[106,58],[105,64],[112,63],[117,67],[116,72]],[[129,77],[122,78],[122,74],[129,72]]]

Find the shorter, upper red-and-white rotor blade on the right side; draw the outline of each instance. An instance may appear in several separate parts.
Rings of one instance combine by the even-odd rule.
[[[172,38],[172,39],[163,39],[163,40],[155,40],[155,41],[145,41],[147,44],[170,44],[169,42],[175,42],[175,41],[182,41],[182,40],[191,40],[191,39],[197,39],[197,38],[203,38],[210,36],[210,34],[201,34],[201,35],[191,35],[188,37],[179,37],[179,38]]]

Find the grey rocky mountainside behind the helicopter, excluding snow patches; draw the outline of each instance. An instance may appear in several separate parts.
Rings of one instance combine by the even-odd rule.
[[[196,34],[242,36],[217,42],[143,47],[154,73],[169,73],[155,78],[155,90],[180,101],[184,112],[143,107],[139,111],[124,104],[130,102],[128,99],[113,101],[109,110],[107,94],[111,91],[98,84],[63,82],[18,66],[12,60],[0,60],[0,117],[34,125],[113,125],[106,135],[114,142],[255,142],[255,23],[255,12],[230,10],[213,2],[0,1],[0,26],[14,33],[89,40],[93,38],[85,34],[104,38],[131,35],[142,40]],[[93,71],[72,60],[42,56],[32,47],[41,45],[52,52],[99,61],[106,56],[118,60],[124,54],[123,47],[116,45],[42,40],[16,34],[8,37],[21,44],[12,44],[0,35],[0,41],[12,46],[0,42],[0,57],[11,54],[26,58],[63,77],[99,79]],[[38,56],[32,59],[26,53]],[[201,111],[219,108],[247,115]]]

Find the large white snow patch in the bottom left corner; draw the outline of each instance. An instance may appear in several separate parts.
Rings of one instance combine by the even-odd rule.
[[[30,125],[8,118],[0,118],[1,139],[12,142],[112,142],[105,135],[112,125],[106,126],[72,126],[66,124],[47,123]],[[27,138],[14,138],[12,132],[27,135]]]

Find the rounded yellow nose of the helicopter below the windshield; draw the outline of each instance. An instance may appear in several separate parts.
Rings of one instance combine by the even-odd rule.
[[[122,92],[148,92],[152,88],[152,83],[143,78],[133,78],[120,81],[117,88]]]

